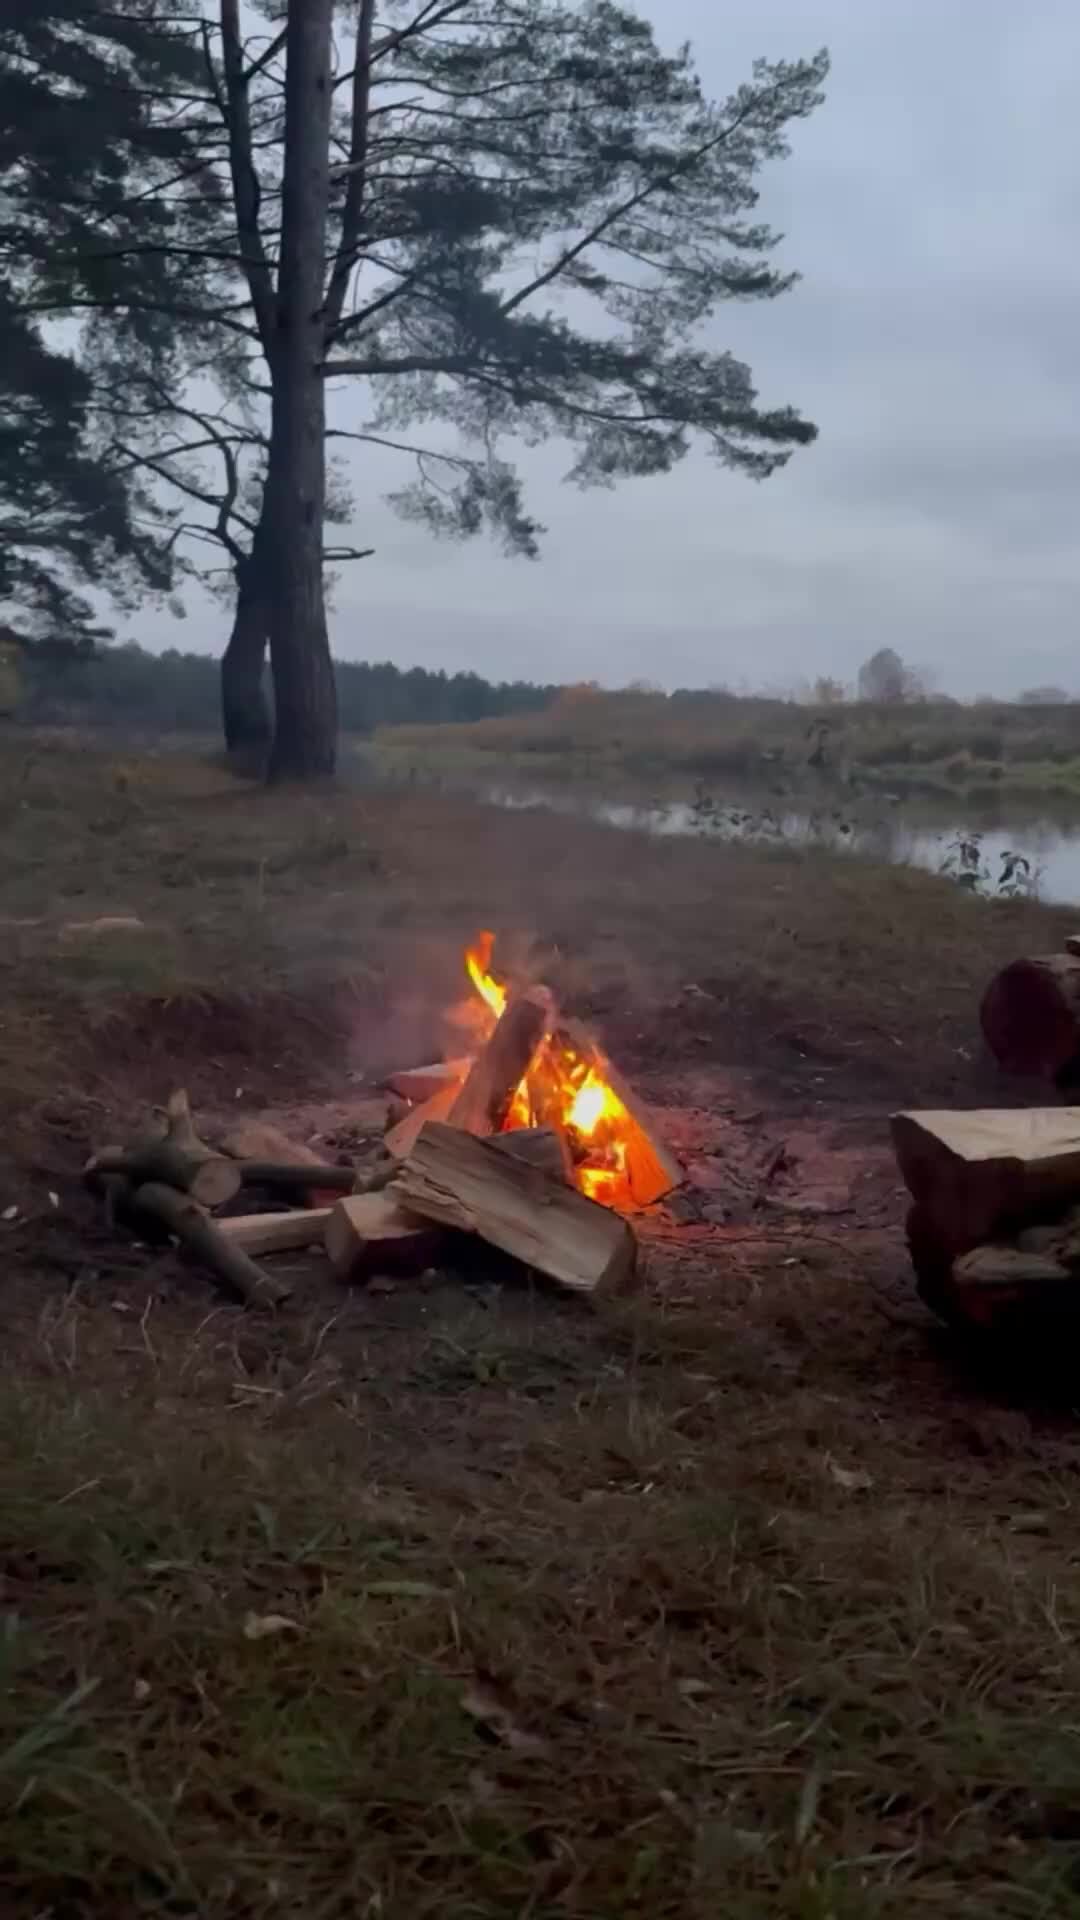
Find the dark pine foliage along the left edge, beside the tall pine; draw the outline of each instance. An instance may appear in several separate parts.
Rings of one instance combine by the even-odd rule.
[[[200,204],[190,132],[163,111],[198,83],[173,12],[0,10],[0,603],[25,641],[92,643],[104,630],[85,589],[131,603],[169,582],[154,501],[102,447],[92,371],[52,323],[92,317],[129,363],[160,367],[181,324],[202,324],[198,307],[181,321],[196,296],[171,250]]]

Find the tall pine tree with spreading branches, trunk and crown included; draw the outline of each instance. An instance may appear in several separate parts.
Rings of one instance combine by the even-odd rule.
[[[690,52],[663,54],[615,0],[384,0],[379,23],[375,0],[265,13],[246,38],[238,0],[206,4],[202,83],[177,88],[167,121],[202,138],[198,198],[160,259],[133,267],[165,290],[125,298],[144,328],[186,319],[231,392],[269,411],[242,647],[225,664],[242,708],[269,636],[271,770],[307,778],[334,762],[327,380],[363,382],[359,438],[417,459],[392,495],[404,513],[436,534],[488,528],[523,555],[542,528],[515,438],[565,442],[578,486],[667,472],[696,442],[767,478],[815,428],[761,407],[707,323],[794,282],[755,215],[757,177],[817,108],[828,61],[761,61],[713,104]],[[115,288],[98,303],[115,311]]]

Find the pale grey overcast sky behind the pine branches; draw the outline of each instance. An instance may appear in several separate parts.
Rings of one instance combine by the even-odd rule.
[[[792,685],[878,645],[951,693],[1080,691],[1080,142],[1076,0],[648,0],[724,96],[755,56],[832,52],[826,104],[763,180],[801,284],[726,309],[765,405],[821,440],[755,486],[692,457],[613,493],[523,455],[538,563],[442,545],[354,461],[332,612],[344,659],[492,678]],[[342,399],[334,399],[342,405]],[[221,643],[223,614],[146,614],[152,645]]]

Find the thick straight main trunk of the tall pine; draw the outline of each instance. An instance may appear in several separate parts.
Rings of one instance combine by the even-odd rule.
[[[323,595],[323,275],[334,0],[290,0],[271,447],[265,488],[275,697],[271,781],[334,772],[336,691]]]

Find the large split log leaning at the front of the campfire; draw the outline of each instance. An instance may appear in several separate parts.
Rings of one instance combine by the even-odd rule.
[[[390,1192],[571,1292],[619,1292],[634,1277],[636,1240],[619,1213],[459,1127],[429,1121]]]

